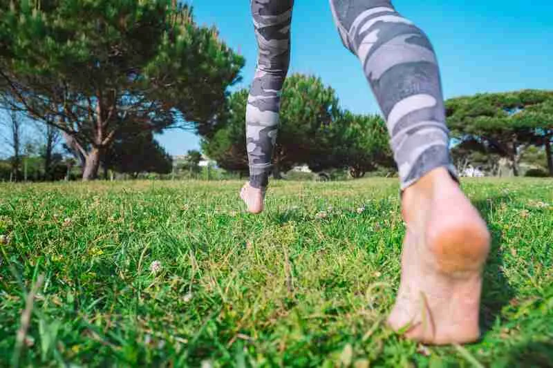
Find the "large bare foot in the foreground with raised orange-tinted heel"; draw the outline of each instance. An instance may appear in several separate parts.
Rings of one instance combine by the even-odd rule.
[[[433,345],[474,342],[490,235],[444,168],[407,188],[400,290],[388,324]]]

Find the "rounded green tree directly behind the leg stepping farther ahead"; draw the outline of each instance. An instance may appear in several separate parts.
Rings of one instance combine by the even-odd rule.
[[[247,171],[245,151],[245,111],[247,90],[233,93],[227,102],[227,113],[212,139],[203,142],[205,153],[219,166],[232,171]],[[317,155],[326,141],[328,126],[339,110],[332,88],[321,79],[306,75],[291,75],[283,86],[277,145],[274,148],[274,171],[290,170],[295,164],[308,162]]]

